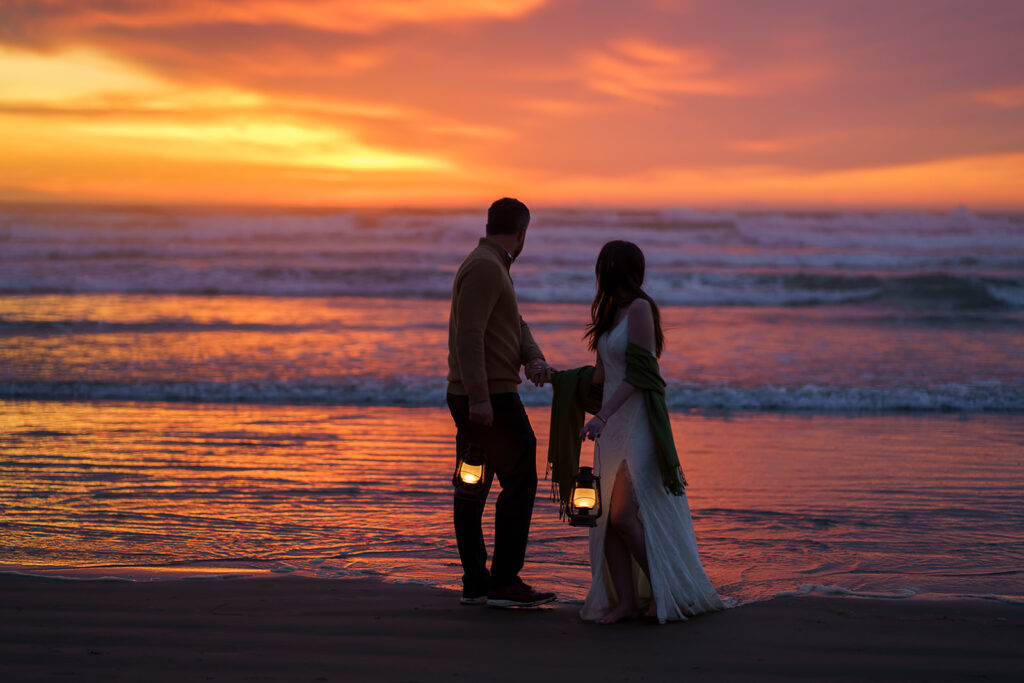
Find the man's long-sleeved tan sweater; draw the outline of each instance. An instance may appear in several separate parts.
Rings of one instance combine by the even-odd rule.
[[[482,238],[459,266],[452,286],[449,316],[450,393],[470,403],[493,393],[519,390],[519,368],[544,358],[519,315],[509,266],[512,257],[494,240]]]

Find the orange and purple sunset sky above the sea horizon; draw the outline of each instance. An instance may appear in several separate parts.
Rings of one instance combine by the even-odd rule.
[[[0,201],[1024,210],[1020,0],[0,0]]]

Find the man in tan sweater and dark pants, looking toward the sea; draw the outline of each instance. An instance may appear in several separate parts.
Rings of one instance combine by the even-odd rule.
[[[509,267],[522,251],[529,210],[501,199],[487,210],[486,237],[462,262],[452,287],[447,403],[456,447],[482,451],[485,475],[476,492],[457,489],[455,535],[463,567],[462,603],[532,607],[554,593],[519,579],[537,495],[537,437],[519,400],[519,369],[540,386],[551,368],[519,315]],[[487,571],[481,518],[495,475],[495,555]]]

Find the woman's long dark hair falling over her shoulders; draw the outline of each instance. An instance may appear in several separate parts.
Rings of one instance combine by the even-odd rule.
[[[654,355],[660,357],[665,348],[662,332],[662,314],[657,304],[643,291],[646,269],[643,252],[632,242],[614,240],[601,247],[594,272],[597,275],[597,295],[590,306],[590,325],[583,338],[590,350],[597,350],[597,340],[614,327],[615,314],[636,299],[646,299],[654,316]]]

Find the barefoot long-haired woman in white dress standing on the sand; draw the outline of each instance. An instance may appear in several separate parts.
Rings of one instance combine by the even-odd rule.
[[[672,445],[655,360],[665,337],[657,305],[641,288],[643,252],[631,242],[609,242],[595,270],[597,296],[585,338],[597,351],[594,382],[603,382],[604,393],[581,435],[596,439],[595,469],[608,512],[590,532],[593,581],[580,613],[601,624],[643,614],[664,624],[721,609],[700,566]]]

